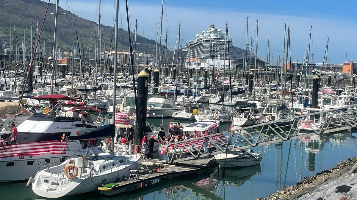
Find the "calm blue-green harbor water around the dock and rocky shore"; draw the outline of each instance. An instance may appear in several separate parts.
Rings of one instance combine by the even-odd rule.
[[[163,122],[161,119],[148,119],[155,131],[159,130],[161,123],[166,127],[170,121],[174,119],[164,119]],[[222,125],[220,130],[227,130],[229,126]],[[224,176],[222,169],[213,168],[208,175],[155,180],[154,185],[149,184],[129,194],[111,198],[100,196],[96,191],[62,199],[199,200],[266,197],[282,189],[284,185],[294,185],[304,177],[315,175],[332,168],[342,160],[355,157],[357,131],[300,138],[255,147],[253,150],[262,152],[261,165],[227,169]],[[158,156],[157,154],[156,157]],[[1,199],[44,199],[35,195],[31,188],[26,188],[26,183],[2,183],[0,194]]]

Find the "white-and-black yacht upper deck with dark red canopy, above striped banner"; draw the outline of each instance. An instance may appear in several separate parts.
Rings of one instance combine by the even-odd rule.
[[[47,100],[50,106],[45,109],[45,113],[36,112],[17,127],[17,142],[60,140],[63,134],[65,137],[76,136],[102,125],[92,121],[87,113],[88,110],[101,113],[99,109],[92,107],[73,107],[69,111],[57,109],[57,114],[55,107],[61,107],[61,104],[64,104],[61,101],[77,101],[68,96],[42,95],[31,99]]]

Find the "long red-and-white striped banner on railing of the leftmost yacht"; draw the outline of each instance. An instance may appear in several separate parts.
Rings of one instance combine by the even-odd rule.
[[[66,154],[67,141],[17,143],[0,146],[0,158],[38,156],[45,153]]]

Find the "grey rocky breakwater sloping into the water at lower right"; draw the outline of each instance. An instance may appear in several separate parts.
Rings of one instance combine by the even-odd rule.
[[[352,200],[357,199],[357,158],[341,161],[336,167],[301,183],[285,186],[282,190],[257,200]]]

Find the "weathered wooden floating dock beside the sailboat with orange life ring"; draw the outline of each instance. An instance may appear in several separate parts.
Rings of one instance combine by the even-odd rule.
[[[165,160],[151,159],[149,161],[157,164],[167,163],[167,161]],[[99,187],[98,190],[100,190],[100,194],[102,195],[112,196],[139,189],[142,187],[142,184],[145,184],[155,179],[170,180],[173,178],[180,177],[182,175],[199,175],[209,170],[211,168],[212,162],[214,161],[215,160],[213,158],[187,160],[177,163],[176,165],[171,164],[172,167],[164,167],[159,172],[144,174],[138,176],[136,179],[131,178],[128,180],[121,181],[119,183],[115,183],[115,185],[111,188]]]

